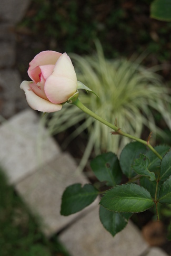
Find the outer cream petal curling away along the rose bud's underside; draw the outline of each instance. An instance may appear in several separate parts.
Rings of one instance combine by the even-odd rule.
[[[32,89],[29,87],[30,81],[23,81],[21,83],[20,88],[25,91],[26,100],[28,105],[34,110],[42,111],[42,112],[55,112],[62,109],[62,105],[53,104],[48,100],[42,99],[38,97]]]

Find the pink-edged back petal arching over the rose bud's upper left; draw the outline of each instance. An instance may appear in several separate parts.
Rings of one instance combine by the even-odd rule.
[[[28,75],[32,79],[31,71],[37,66],[53,64],[55,65],[56,61],[62,53],[55,51],[43,51],[38,53],[34,59],[29,63]]]

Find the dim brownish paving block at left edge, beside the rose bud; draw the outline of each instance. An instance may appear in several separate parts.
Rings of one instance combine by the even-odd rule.
[[[5,118],[28,107],[20,84],[21,77],[17,70],[0,70],[0,115]]]

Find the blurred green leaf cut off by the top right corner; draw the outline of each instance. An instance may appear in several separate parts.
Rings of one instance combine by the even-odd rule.
[[[150,16],[160,21],[171,21],[170,0],[155,0],[150,6]]]

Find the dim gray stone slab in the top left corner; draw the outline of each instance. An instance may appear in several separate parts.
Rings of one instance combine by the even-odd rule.
[[[30,0],[1,0],[1,20],[12,24],[21,21],[30,2]]]

